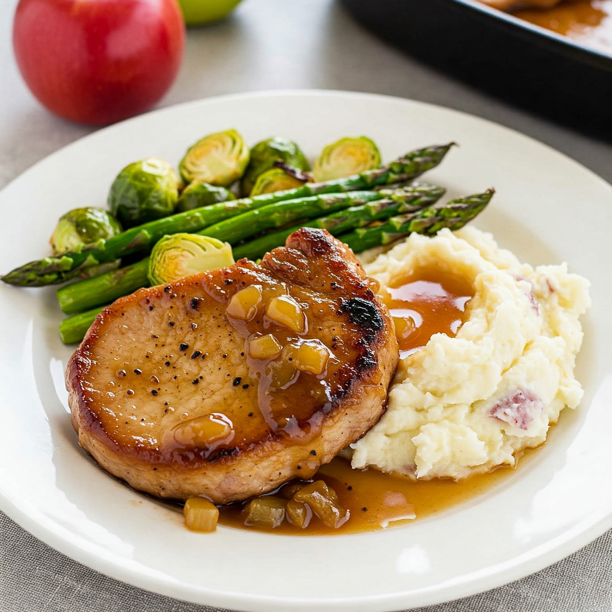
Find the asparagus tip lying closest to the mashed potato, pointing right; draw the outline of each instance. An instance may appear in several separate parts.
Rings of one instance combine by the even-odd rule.
[[[383,225],[341,234],[338,238],[355,253],[360,253],[368,248],[390,244],[412,233],[433,236],[442,228],[458,230],[483,211],[494,193],[494,189],[488,189],[447,204],[434,204],[417,212],[392,217]]]

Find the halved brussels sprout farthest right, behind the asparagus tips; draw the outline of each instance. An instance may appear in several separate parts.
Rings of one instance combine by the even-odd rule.
[[[366,138],[341,138],[328,144],[315,161],[315,180],[332,181],[364,170],[378,168],[381,154],[376,144]]]

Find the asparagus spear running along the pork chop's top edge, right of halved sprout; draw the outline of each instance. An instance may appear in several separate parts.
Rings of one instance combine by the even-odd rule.
[[[277,232],[264,234],[259,238],[234,247],[234,258],[256,259],[261,257],[273,248],[285,244],[287,237],[301,227],[321,228],[337,236],[354,228],[368,225],[373,221],[387,219],[398,213],[414,212],[425,206],[435,204],[446,190],[433,185],[413,184],[403,188],[403,191],[406,195],[411,195],[405,201],[400,202],[390,198],[376,200],[360,206],[352,206],[327,217],[319,217],[300,225],[293,225]]]

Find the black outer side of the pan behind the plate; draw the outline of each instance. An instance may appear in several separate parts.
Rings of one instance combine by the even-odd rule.
[[[476,0],[341,0],[366,28],[504,100],[612,139],[612,53]]]

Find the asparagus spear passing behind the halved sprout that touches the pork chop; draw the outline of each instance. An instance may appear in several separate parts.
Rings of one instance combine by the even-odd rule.
[[[338,217],[329,218],[326,226],[339,225],[338,231],[348,231],[355,227],[349,220],[362,216],[364,223],[371,221],[375,211],[384,211],[387,206],[395,206],[386,217],[395,212],[408,211],[410,206],[422,207],[425,204],[436,201],[444,193],[441,187],[432,185],[414,185],[396,190],[381,190],[378,192],[350,192],[335,193],[327,195],[312,196],[301,200],[288,200],[263,206],[255,211],[245,212],[225,222],[217,223],[200,232],[204,236],[212,236],[226,242],[237,242],[245,237],[264,231],[268,228],[276,228],[286,225],[298,218],[315,217],[326,211],[346,209],[351,204],[359,204],[357,211],[339,212]],[[373,206],[371,209],[363,209],[367,201],[377,204],[378,200],[383,204]],[[381,212],[381,214],[383,214]],[[368,217],[370,215],[370,217]],[[382,218],[386,218],[383,214]],[[343,222],[343,220],[345,220]],[[316,225],[322,227],[323,225]],[[284,242],[284,239],[283,241]],[[282,244],[282,242],[278,244]],[[278,246],[274,244],[274,246]],[[63,312],[70,315],[98,304],[105,304],[112,300],[125,296],[140,287],[147,286],[149,280],[147,269],[149,259],[125,266],[119,270],[100,274],[97,277],[81,280],[71,285],[61,287],[56,292],[59,305]]]

